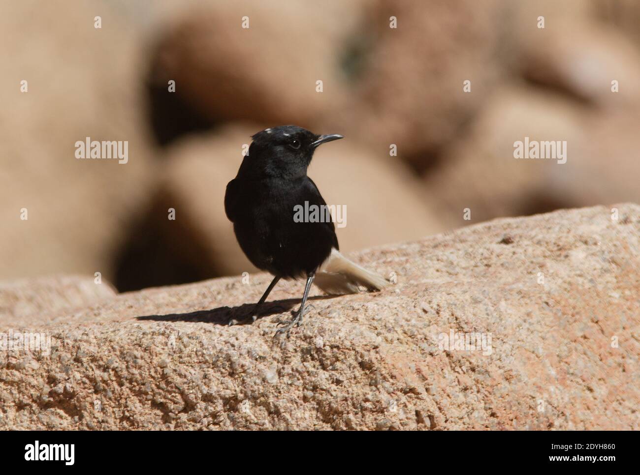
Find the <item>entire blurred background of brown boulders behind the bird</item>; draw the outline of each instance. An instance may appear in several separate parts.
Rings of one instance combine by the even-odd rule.
[[[0,279],[252,272],[225,185],[285,123],[346,137],[309,170],[347,205],[345,251],[639,202],[639,24],[633,0],[2,0]],[[86,136],[129,163],[75,159]],[[525,136],[567,141],[566,164],[514,159]]]

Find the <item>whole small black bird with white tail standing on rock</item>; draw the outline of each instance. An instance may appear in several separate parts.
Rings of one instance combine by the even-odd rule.
[[[271,127],[252,136],[253,142],[238,170],[227,185],[225,212],[234,224],[234,232],[244,254],[258,269],[268,270],[274,278],[250,315],[255,321],[257,309],[281,278],[305,277],[307,284],[300,309],[276,334],[289,332],[300,322],[311,284],[330,294],[355,293],[360,287],[380,290],[388,284],[383,277],[369,272],[339,253],[333,220],[296,222],[296,205],[326,203],[307,176],[314,150],[320,144],[342,139],[337,134],[317,136],[296,125]],[[310,221],[310,220],[307,220]],[[230,320],[229,324],[234,323]]]

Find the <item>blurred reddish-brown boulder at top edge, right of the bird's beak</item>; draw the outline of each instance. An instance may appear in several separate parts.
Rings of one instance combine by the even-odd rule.
[[[360,74],[338,120],[349,133],[417,169],[456,135],[493,91],[509,8],[470,0],[378,0],[360,23]],[[397,27],[391,27],[392,17]],[[356,56],[357,57],[357,56]],[[470,81],[470,92],[463,90]]]

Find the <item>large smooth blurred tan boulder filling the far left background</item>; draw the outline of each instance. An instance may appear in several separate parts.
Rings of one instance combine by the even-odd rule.
[[[3,3],[0,29],[0,279],[110,277],[153,175],[138,38],[97,2]],[[128,161],[76,158],[86,137],[126,142]]]

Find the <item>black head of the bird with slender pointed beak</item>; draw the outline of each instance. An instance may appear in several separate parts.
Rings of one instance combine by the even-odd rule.
[[[317,146],[342,139],[338,134],[318,136],[297,125],[269,127],[252,136],[250,162],[268,175],[305,175]]]

